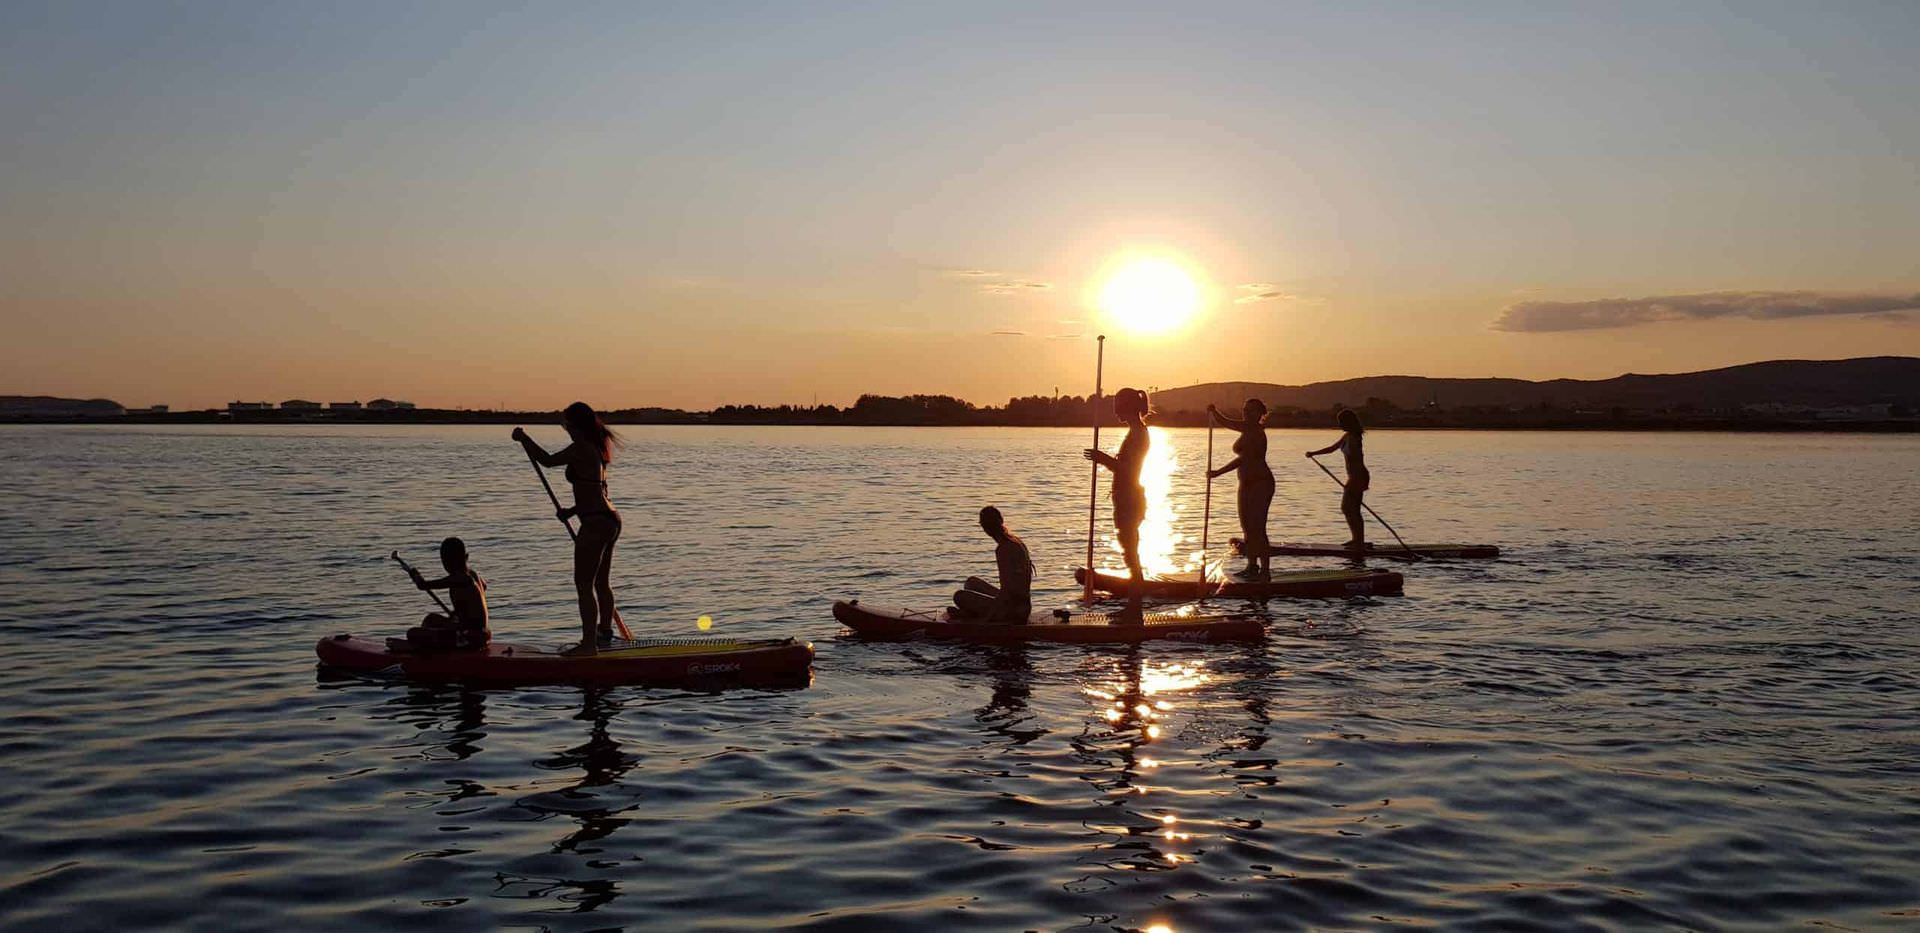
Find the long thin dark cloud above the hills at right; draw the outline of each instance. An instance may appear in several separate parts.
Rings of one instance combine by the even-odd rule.
[[[1837,292],[1701,292],[1692,296],[1601,298],[1594,301],[1519,301],[1494,321],[1494,330],[1555,332],[1601,330],[1661,321],[1711,321],[1745,317],[1885,315],[1920,309],[1920,294]]]

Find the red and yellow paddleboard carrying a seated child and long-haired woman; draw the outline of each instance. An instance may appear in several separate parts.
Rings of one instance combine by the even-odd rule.
[[[492,643],[470,651],[390,651],[384,641],[328,635],[313,645],[321,664],[363,674],[403,674],[499,687],[536,683],[685,683],[708,678],[804,678],[814,662],[810,641],[780,639],[637,639],[593,657],[566,657],[534,645]]]

